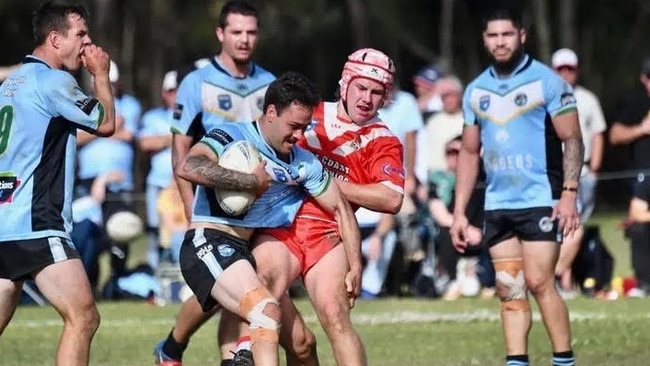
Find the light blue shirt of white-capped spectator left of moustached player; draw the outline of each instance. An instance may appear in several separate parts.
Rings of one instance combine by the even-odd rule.
[[[138,137],[171,135],[172,110],[158,107],[142,116],[142,129]],[[147,185],[167,187],[172,180],[172,148],[162,149],[151,156],[151,169],[147,174]]]

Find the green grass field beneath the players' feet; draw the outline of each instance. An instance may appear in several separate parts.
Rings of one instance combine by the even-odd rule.
[[[629,275],[629,255],[622,232],[622,215],[593,220],[616,257],[616,274]],[[573,319],[574,350],[580,365],[650,364],[650,305],[648,299],[601,301],[579,298],[567,302]],[[308,325],[318,337],[322,365],[334,365],[331,349],[309,303],[298,301]],[[152,347],[173,325],[177,305],[101,303],[102,325],[92,349],[91,365],[151,365]],[[366,345],[369,364],[503,365],[503,341],[497,300],[454,302],[417,299],[359,301],[354,323]],[[550,365],[550,345],[536,321],[530,336],[532,365]],[[185,365],[218,365],[216,321],[195,336]],[[24,306],[0,339],[0,365],[52,365],[61,322],[49,307]]]

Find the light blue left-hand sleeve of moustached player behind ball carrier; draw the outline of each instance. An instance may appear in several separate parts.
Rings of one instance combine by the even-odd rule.
[[[187,135],[192,122],[201,113],[201,85],[198,71],[195,70],[183,78],[176,93],[172,132]]]

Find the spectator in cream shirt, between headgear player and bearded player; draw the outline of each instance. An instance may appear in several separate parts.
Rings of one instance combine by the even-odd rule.
[[[429,151],[426,156],[427,171],[424,173],[427,175],[447,170],[445,146],[463,132],[463,85],[457,77],[448,76],[438,81],[437,88],[442,100],[442,111],[429,118],[426,124],[426,146]]]

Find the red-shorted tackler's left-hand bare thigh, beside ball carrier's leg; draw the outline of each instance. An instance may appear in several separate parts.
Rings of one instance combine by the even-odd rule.
[[[258,276],[279,299],[300,276],[300,262],[284,243],[265,234],[257,236],[252,253],[257,262]]]

